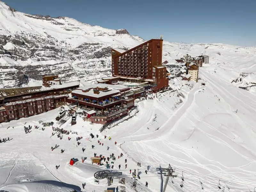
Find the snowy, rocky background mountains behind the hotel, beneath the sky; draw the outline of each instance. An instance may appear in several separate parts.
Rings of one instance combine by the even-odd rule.
[[[109,76],[111,47],[129,49],[144,41],[125,29],[91,26],[68,17],[29,15],[1,1],[0,20],[0,78],[4,80],[0,88],[37,85],[42,76],[49,74],[59,74],[64,80]],[[256,70],[255,47],[164,41],[163,61],[172,64],[187,53],[207,54],[212,64],[241,72]],[[240,58],[245,64],[240,65]],[[236,74],[234,79],[239,76]]]

